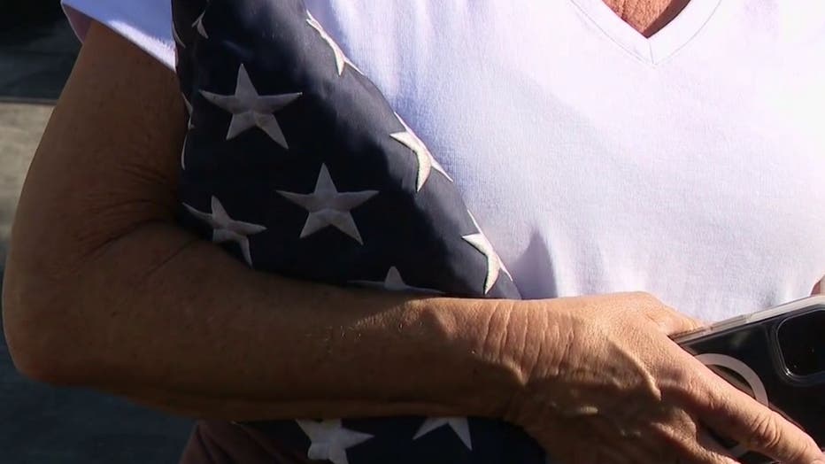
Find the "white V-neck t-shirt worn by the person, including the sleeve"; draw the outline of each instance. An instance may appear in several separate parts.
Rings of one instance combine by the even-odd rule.
[[[169,0],[64,0],[173,66]],[[825,275],[825,3],[310,0],[527,298],[646,290],[716,321]],[[208,23],[204,24],[208,30]]]

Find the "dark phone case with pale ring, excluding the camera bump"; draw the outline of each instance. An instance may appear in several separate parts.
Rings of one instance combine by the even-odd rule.
[[[825,448],[825,375],[805,378],[790,375],[776,341],[776,330],[783,321],[825,310],[825,298],[806,298],[786,306],[790,306],[787,312],[780,306],[769,310],[770,314],[778,314],[768,317],[765,312],[722,322],[721,329],[698,337],[689,336],[680,344],[740,390],[767,402],[772,409],[796,422]],[[825,334],[816,343],[825,344]],[[744,463],[773,462],[758,453],[744,452],[725,440],[720,442]]]

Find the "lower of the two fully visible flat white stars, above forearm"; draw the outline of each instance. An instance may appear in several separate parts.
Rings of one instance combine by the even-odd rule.
[[[332,177],[329,176],[327,165],[321,165],[318,182],[315,183],[315,191],[312,193],[301,194],[281,190],[278,190],[278,193],[309,212],[304,229],[301,230],[301,238],[311,236],[322,228],[333,226],[354,238],[359,244],[364,244],[350,212],[377,195],[378,191],[339,192],[335,188],[335,183],[332,182]]]

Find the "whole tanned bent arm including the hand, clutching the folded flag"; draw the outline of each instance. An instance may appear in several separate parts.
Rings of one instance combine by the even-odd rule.
[[[643,294],[420,298],[257,273],[176,227],[174,75],[95,25],[32,163],[4,282],[24,374],[230,420],[481,415],[581,464],[789,464],[810,437],[668,338]]]

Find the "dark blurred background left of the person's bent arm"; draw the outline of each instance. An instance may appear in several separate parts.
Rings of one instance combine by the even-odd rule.
[[[0,0],[0,276],[28,165],[80,49],[58,3]],[[0,337],[0,464],[176,463],[190,426],[120,398],[30,382]]]

